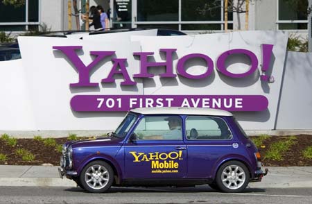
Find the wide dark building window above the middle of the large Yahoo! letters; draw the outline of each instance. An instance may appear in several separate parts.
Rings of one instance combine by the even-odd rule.
[[[137,27],[166,27],[180,31],[222,31],[224,0],[137,0]],[[228,28],[233,13],[228,14]]]

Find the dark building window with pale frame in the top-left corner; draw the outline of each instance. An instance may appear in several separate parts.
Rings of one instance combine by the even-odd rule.
[[[40,24],[39,0],[26,0],[23,6],[4,5],[0,1],[0,31],[27,31]]]

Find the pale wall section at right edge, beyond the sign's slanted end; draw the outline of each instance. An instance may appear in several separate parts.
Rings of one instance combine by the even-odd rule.
[[[278,130],[312,128],[312,53],[288,52]]]

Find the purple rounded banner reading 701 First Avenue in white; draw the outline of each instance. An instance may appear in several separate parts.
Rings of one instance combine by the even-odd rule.
[[[71,108],[77,112],[128,111],[145,107],[261,111],[268,108],[268,99],[261,95],[77,95],[71,99]]]

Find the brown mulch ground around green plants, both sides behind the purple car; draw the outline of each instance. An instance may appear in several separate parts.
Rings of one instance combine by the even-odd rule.
[[[312,166],[312,160],[304,159],[302,151],[312,146],[312,135],[297,135],[297,142],[291,146],[289,151],[284,153],[284,160],[274,161],[263,159],[263,165],[266,167],[287,167],[287,166]],[[266,151],[268,151],[270,144],[278,142],[280,140],[287,139],[286,136],[270,137],[263,141],[264,148],[261,148],[261,158],[264,158]],[[67,138],[55,138],[58,144],[64,144],[67,142]],[[21,160],[21,156],[15,155],[15,151],[18,148],[24,148],[35,155],[35,160],[32,162],[24,162]],[[35,139],[17,139],[17,145],[15,147],[8,146],[6,142],[0,139],[0,153],[7,155],[7,160],[0,164],[8,165],[41,165],[44,163],[53,164],[55,166],[60,164],[60,155],[55,150],[55,146],[44,146],[43,142],[36,141]]]

